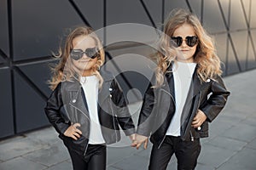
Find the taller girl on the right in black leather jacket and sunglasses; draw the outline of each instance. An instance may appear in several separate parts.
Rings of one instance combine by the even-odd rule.
[[[147,144],[151,133],[149,169],[166,169],[173,154],[178,170],[195,169],[200,138],[208,137],[208,122],[230,95],[220,76],[220,60],[200,20],[183,9],[166,20],[156,58],[156,83],[143,99],[137,147]]]

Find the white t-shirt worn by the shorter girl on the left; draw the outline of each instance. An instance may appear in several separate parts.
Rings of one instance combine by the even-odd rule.
[[[98,117],[98,86],[99,81],[96,76],[81,77],[80,80],[84,89],[88,111],[90,116],[90,138],[89,144],[104,144],[102,128]]]

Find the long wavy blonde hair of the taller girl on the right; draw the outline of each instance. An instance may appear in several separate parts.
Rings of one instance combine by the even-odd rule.
[[[195,50],[194,59],[197,64],[197,74],[201,82],[206,82],[208,78],[214,78],[222,74],[220,59],[216,54],[214,41],[201,26],[200,20],[195,14],[188,12],[185,9],[175,9],[171,12],[164,23],[164,32],[160,37],[159,51],[156,54],[157,68],[156,87],[159,87],[164,82],[164,74],[172,61],[176,59],[176,51],[171,44],[171,37],[174,31],[183,24],[193,26],[195,35],[198,37],[198,44]]]

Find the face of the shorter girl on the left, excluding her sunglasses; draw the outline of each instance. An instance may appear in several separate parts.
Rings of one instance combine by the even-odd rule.
[[[79,36],[73,39],[73,50],[82,50],[83,52],[88,48],[96,48],[96,42],[92,37]],[[90,76],[92,67],[96,65],[97,57],[91,59],[86,54],[82,58],[72,59],[73,65],[81,71],[83,77]]]

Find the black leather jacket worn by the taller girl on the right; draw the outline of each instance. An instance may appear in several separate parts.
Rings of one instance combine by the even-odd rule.
[[[152,85],[149,83],[138,121],[137,133],[144,136],[151,134],[150,141],[157,144],[158,147],[166,137],[166,131],[176,109],[171,69],[170,66],[169,72],[166,73],[165,82],[160,88],[151,88]],[[208,122],[212,122],[218,116],[230,95],[221,77],[201,82],[196,69],[181,117],[181,139],[183,140],[208,137]],[[191,127],[198,109],[207,116],[207,121],[201,125],[201,130]]]

